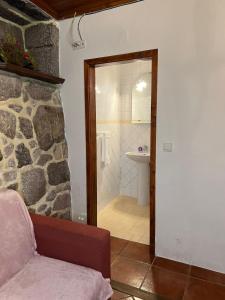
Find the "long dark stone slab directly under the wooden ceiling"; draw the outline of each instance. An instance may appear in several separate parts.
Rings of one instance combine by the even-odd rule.
[[[15,7],[16,9],[20,10],[23,14],[31,17],[36,21],[47,21],[50,20],[51,17],[45,13],[42,9],[38,6],[33,4],[31,1],[25,0],[4,0],[11,6]]]

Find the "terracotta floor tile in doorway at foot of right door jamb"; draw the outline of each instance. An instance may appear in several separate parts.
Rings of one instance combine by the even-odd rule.
[[[128,242],[126,247],[121,251],[120,255],[146,263],[151,263],[154,259],[153,256],[150,257],[148,245],[136,242]]]

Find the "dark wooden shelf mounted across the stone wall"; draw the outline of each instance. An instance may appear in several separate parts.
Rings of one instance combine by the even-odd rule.
[[[62,84],[65,81],[65,79],[63,78],[55,77],[43,72],[30,70],[17,65],[7,64],[3,62],[0,62],[0,70],[54,84]]]

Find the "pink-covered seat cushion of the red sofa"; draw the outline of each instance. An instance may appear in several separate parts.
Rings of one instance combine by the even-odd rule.
[[[0,288],[1,300],[107,300],[112,289],[100,272],[45,256],[34,256]]]

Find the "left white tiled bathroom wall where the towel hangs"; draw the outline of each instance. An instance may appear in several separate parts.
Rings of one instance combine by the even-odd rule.
[[[100,143],[97,140],[97,191],[98,210],[119,195],[120,189],[120,72],[119,66],[96,69],[97,132],[110,134],[110,163],[100,160]]]

